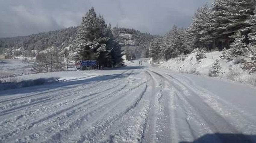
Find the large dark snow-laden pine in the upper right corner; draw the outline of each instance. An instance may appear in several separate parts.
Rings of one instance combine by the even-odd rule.
[[[255,0],[215,0],[212,8],[211,31],[217,46],[221,49],[229,47],[230,37],[239,30],[246,35],[245,42],[248,44],[247,34],[248,19],[254,15]]]

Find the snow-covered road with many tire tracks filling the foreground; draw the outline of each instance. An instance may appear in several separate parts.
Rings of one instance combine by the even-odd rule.
[[[136,65],[0,91],[0,142],[256,142],[255,87]]]

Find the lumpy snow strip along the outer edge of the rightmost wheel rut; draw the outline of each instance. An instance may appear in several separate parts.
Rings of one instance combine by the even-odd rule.
[[[246,134],[256,133],[256,122],[254,120],[255,117],[246,112],[241,112],[243,110],[239,109],[237,106],[227,102],[226,100],[223,100],[222,98],[211,93],[210,91],[207,91],[206,89],[197,86],[188,77],[183,75],[182,77],[189,82],[189,85],[186,85],[187,88],[189,88],[199,97],[201,97],[201,100],[204,100],[205,103],[207,103],[212,109],[215,109],[215,111],[218,112],[221,116],[225,117],[226,120],[228,119],[229,122],[232,123],[232,125],[236,127],[237,130],[239,130],[239,132],[242,131]],[[179,82],[184,85],[184,82],[181,82],[180,80]],[[232,114],[232,116],[229,116],[230,114]],[[247,126],[246,129],[244,128],[245,124]]]

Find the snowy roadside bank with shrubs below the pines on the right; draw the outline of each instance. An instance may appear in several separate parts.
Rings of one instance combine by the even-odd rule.
[[[192,73],[197,75],[209,75],[209,70],[213,67],[214,61],[219,60],[221,78],[244,82],[256,85],[255,73],[248,74],[248,70],[241,68],[241,63],[237,59],[232,61],[220,59],[222,52],[208,52],[206,58],[196,59],[196,53],[181,55],[178,58],[172,58],[166,62],[160,62],[159,67],[167,70],[173,70],[180,73]]]

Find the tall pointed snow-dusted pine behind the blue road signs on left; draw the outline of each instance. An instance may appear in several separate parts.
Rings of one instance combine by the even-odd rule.
[[[92,7],[82,18],[74,40],[81,60],[97,60],[99,66],[108,66],[111,62],[111,28],[105,24],[102,16],[97,16]]]

